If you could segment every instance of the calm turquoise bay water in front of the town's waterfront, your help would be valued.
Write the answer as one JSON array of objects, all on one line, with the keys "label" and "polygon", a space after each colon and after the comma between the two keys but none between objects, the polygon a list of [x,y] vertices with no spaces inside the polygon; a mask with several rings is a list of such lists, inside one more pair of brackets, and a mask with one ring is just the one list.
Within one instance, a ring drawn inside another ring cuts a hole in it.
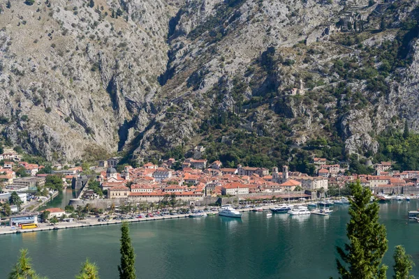
[{"label": "calm turquoise bay water in front of the town's waterfront", "polygon": [[[419,203],[381,204],[390,265],[402,244],[419,263],[418,223],[406,219]],[[337,277],[335,246],[346,241],[346,206],[331,216],[244,213],[242,220],[207,216],[131,223],[139,278],[328,278]],[[36,271],[48,278],[74,278],[87,257],[102,279],[117,278],[120,225],[0,236],[0,271],[10,271],[20,248],[28,248]],[[1,278],[6,273],[1,272]],[[419,264],[413,270],[419,277]]]}]

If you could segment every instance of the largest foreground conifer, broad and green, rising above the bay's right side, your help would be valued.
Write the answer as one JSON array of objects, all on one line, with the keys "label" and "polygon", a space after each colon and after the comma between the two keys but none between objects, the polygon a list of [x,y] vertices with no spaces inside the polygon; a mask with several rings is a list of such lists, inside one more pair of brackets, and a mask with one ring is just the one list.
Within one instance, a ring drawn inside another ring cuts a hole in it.
[{"label": "largest foreground conifer, broad and green, rising above the bay's right side", "polygon": [[350,241],[344,249],[337,252],[342,262],[336,259],[337,270],[342,279],[349,278],[385,278],[387,266],[381,260],[387,251],[387,239],[384,225],[378,223],[378,202],[369,203],[371,190],[363,188],[360,181],[352,183],[351,220],[346,225],[346,235]]}]

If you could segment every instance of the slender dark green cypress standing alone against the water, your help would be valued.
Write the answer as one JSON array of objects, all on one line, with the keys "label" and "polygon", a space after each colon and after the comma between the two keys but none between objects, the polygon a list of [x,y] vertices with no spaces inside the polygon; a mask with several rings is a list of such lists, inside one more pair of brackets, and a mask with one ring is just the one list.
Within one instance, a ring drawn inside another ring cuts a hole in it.
[{"label": "slender dark green cypress standing alone against the water", "polygon": [[135,253],[129,236],[128,223],[121,227],[121,265],[118,266],[119,279],[135,279]]}]

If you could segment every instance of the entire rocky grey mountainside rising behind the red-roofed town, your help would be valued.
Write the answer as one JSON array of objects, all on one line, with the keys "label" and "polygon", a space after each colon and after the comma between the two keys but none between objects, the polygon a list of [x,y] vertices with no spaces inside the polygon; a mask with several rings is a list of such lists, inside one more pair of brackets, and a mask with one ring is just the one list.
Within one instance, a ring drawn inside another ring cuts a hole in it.
[{"label": "entire rocky grey mountainside rising behind the red-roofed town", "polygon": [[53,160],[249,141],[371,156],[383,131],[419,130],[416,5],[3,1],[3,137]]}]

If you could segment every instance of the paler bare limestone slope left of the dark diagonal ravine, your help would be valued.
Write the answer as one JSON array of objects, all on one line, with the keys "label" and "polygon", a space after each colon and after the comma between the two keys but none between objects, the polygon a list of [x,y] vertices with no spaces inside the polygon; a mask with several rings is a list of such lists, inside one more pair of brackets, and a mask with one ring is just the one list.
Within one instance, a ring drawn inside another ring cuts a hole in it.
[{"label": "paler bare limestone slope left of the dark diagonal ravine", "polygon": [[147,126],[167,63],[172,3],[11,2],[0,15],[6,137],[73,160],[92,149],[115,152]]}]

